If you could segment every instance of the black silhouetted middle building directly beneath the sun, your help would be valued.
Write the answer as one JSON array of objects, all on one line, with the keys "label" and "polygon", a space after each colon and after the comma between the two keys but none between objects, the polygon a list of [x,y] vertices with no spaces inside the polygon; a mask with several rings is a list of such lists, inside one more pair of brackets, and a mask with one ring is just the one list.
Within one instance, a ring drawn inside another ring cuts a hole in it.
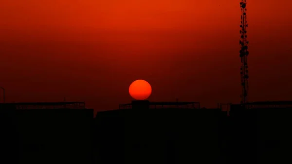
[{"label": "black silhouetted middle building directly beneath the sun", "polygon": [[[144,110],[135,108],[137,104]],[[225,160],[221,128],[227,116],[220,109],[200,109],[198,102],[146,101],[119,108],[96,115],[96,164],[219,164]]]}]

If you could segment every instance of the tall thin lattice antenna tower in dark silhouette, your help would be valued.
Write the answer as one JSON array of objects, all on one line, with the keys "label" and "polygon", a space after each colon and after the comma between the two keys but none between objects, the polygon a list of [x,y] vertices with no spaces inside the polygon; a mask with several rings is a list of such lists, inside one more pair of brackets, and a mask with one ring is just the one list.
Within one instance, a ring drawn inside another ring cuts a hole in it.
[{"label": "tall thin lattice antenna tower in dark silhouette", "polygon": [[248,41],[247,41],[247,32],[246,29],[248,27],[247,21],[246,21],[246,0],[241,0],[240,2],[240,8],[241,8],[241,25],[240,25],[240,58],[241,58],[241,68],[240,68],[240,74],[241,74],[241,104],[247,103],[247,95],[248,95],[248,65],[247,65],[247,56],[249,55],[248,52]]}]

